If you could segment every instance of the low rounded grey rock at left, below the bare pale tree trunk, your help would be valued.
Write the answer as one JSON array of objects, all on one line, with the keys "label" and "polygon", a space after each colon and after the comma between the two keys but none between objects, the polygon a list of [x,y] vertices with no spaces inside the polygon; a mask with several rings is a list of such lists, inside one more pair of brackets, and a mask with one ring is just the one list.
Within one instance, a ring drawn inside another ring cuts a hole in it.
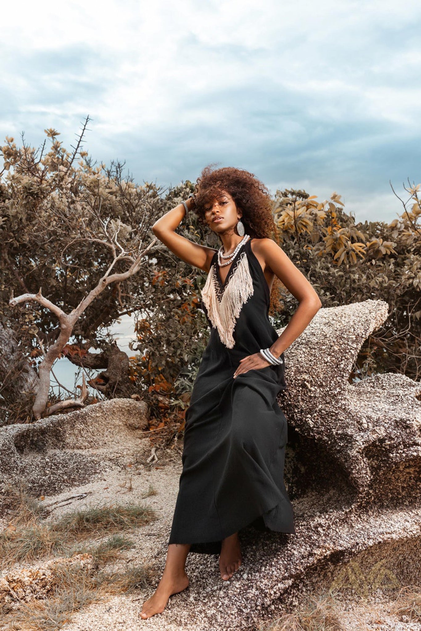
[{"label": "low rounded grey rock at left, below the bare pale tree trunk", "polygon": [[112,399],[30,425],[0,427],[0,495],[8,484],[24,483],[37,496],[90,480],[115,454],[138,447],[147,418],[143,401]]}]

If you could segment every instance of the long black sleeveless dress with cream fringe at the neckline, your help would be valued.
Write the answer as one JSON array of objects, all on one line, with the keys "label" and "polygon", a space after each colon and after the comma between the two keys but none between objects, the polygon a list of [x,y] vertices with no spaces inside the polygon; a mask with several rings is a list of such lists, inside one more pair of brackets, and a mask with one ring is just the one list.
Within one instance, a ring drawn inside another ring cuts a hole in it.
[{"label": "long black sleeveless dress with cream fringe at the neckline", "polygon": [[192,544],[194,552],[216,553],[225,537],[249,525],[295,533],[283,481],[287,420],[276,401],[286,387],[285,363],[234,379],[240,359],[278,339],[251,241],[240,247],[224,283],[215,252],[201,292],[211,333],[186,410],[169,539]]}]

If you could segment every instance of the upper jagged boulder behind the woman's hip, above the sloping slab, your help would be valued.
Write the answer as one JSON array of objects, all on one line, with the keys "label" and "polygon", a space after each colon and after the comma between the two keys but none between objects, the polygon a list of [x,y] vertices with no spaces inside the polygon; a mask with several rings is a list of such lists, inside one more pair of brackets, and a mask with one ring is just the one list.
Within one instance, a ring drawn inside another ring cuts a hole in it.
[{"label": "upper jagged boulder behind the woman's hip, above the sloping slab", "polygon": [[293,497],[340,485],[340,501],[420,500],[421,384],[401,374],[348,382],[362,343],[387,316],[382,300],[321,309],[285,351],[288,388],[278,401],[293,428]]}]

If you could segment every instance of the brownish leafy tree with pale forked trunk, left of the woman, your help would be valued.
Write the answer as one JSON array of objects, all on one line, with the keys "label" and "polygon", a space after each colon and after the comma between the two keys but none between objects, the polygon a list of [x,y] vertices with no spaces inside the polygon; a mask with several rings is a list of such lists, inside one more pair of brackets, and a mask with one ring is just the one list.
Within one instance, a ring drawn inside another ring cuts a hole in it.
[{"label": "brownish leafy tree with pale forked trunk, left of the woman", "polygon": [[95,347],[98,328],[127,312],[126,281],[143,264],[151,274],[148,251],[157,241],[157,188],[124,178],[119,163],[93,164],[82,150],[87,124],[73,151],[54,129],[45,130],[49,151],[23,138],[20,147],[13,138],[0,147],[0,317],[37,368],[35,418],[45,412],[50,370],[69,338]]}]

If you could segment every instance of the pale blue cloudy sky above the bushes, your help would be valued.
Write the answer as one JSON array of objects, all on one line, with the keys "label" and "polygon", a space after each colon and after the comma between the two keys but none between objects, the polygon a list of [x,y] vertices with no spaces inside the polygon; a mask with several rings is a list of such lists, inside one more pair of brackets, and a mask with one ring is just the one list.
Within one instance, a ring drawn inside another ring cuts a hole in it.
[{"label": "pale blue cloudy sky above the bushes", "polygon": [[15,0],[2,7],[0,138],[126,160],[138,182],[247,168],[390,221],[421,180],[419,0]]}]

